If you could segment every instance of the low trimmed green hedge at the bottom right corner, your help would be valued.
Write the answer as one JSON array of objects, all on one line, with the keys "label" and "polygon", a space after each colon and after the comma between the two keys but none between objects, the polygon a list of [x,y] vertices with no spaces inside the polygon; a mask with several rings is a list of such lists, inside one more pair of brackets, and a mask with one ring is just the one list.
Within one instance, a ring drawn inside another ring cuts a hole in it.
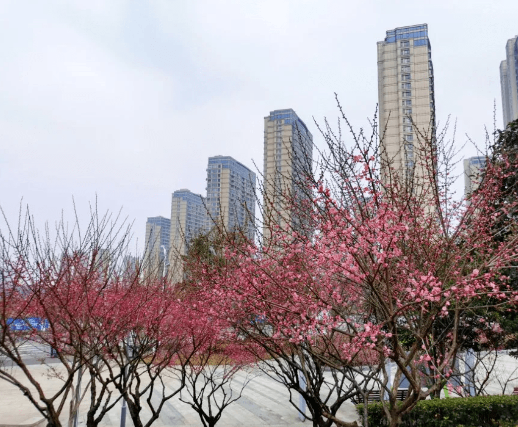
[{"label": "low trimmed green hedge at the bottom right corner", "polygon": [[[398,403],[400,405],[400,403]],[[363,405],[356,405],[360,420]],[[386,426],[381,403],[368,405],[369,427]],[[518,396],[453,397],[419,402],[402,417],[402,427],[511,426],[518,422]]]}]

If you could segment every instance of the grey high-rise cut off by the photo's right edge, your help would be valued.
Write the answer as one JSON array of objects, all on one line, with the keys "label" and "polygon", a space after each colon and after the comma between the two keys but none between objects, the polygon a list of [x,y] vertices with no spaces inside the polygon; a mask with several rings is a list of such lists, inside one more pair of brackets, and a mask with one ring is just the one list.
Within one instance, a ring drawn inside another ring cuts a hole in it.
[{"label": "grey high-rise cut off by the photo's right edge", "polygon": [[518,36],[506,43],[506,59],[500,63],[503,127],[518,119]]}]

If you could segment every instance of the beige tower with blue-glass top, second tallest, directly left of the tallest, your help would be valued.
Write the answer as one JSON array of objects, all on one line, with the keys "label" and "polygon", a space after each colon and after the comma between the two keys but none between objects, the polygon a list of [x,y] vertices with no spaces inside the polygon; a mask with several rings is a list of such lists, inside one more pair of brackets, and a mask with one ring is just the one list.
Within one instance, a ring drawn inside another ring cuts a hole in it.
[{"label": "beige tower with blue-glass top, second tallest, directly left of the tallest", "polygon": [[265,242],[273,224],[300,228],[303,219],[292,207],[308,197],[304,177],[312,165],[313,136],[306,124],[292,109],[270,111],[264,118]]}]

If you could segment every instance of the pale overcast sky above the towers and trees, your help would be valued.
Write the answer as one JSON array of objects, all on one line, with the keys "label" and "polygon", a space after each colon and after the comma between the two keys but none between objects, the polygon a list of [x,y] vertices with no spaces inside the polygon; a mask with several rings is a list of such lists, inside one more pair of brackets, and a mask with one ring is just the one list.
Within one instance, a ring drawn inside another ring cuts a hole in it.
[{"label": "pale overcast sky above the towers and trees", "polygon": [[439,123],[483,146],[517,14],[515,0],[0,0],[0,205],[12,222],[23,198],[53,223],[97,195],[142,247],[174,190],[205,194],[209,156],[262,170],[269,111],[293,108],[320,145],[313,117],[336,122],[337,92],[368,126],[376,42],[413,24],[428,24]]}]

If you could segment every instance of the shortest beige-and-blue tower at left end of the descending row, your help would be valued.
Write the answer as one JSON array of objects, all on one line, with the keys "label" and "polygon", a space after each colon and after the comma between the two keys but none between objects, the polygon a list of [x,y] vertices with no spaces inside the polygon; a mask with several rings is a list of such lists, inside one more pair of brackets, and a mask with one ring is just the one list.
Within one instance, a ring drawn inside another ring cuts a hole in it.
[{"label": "shortest beige-and-blue tower at left end of the descending row", "polygon": [[170,225],[170,219],[163,216],[148,218],[143,258],[143,268],[148,275],[161,276],[163,274],[164,260],[167,259],[169,253]]}]

